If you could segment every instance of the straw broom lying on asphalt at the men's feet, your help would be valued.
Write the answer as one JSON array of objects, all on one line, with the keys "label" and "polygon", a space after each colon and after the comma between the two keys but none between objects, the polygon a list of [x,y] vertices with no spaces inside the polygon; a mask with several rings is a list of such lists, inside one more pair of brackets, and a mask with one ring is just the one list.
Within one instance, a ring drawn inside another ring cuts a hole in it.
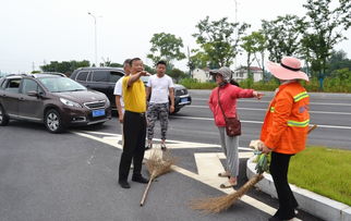
[{"label": "straw broom lying on asphalt at the men's feet", "polygon": [[162,156],[157,154],[158,150],[154,150],[146,161],[146,168],[150,174],[150,179],[147,183],[146,189],[143,194],[142,200],[141,200],[141,207],[144,206],[147,193],[149,191],[149,187],[152,185],[152,182],[165,174],[171,171],[171,165],[174,163],[174,158],[170,156],[168,151],[166,151]]}]

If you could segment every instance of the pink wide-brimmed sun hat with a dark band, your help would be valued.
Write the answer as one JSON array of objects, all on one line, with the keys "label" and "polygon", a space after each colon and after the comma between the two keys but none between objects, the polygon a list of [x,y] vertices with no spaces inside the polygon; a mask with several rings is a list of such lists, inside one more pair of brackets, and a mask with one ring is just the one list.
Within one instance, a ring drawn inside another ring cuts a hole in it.
[{"label": "pink wide-brimmed sun hat with a dark band", "polygon": [[268,61],[267,67],[279,79],[304,79],[308,82],[308,76],[301,71],[301,61],[296,58],[283,57],[280,63]]}]

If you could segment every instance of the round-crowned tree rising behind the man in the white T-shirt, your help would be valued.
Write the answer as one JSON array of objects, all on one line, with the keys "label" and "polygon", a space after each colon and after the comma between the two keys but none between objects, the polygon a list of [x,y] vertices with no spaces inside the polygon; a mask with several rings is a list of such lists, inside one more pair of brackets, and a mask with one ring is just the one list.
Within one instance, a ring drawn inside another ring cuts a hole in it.
[{"label": "round-crowned tree rising behind the man in the white T-shirt", "polygon": [[150,53],[147,54],[147,58],[152,59],[154,64],[160,60],[166,60],[172,66],[173,60],[185,59],[185,54],[180,51],[183,48],[183,40],[174,35],[166,33],[154,34],[150,44]]}]

